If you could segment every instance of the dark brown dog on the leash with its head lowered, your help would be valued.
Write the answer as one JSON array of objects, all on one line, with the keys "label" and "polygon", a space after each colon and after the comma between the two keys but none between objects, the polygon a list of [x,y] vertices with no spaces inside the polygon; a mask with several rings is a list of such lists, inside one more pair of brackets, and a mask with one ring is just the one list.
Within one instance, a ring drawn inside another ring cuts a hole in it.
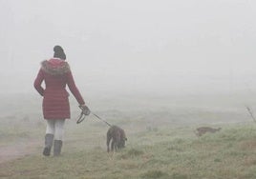
[{"label": "dark brown dog on the leash with its head lowered", "polygon": [[111,150],[121,149],[125,147],[125,141],[127,141],[125,132],[117,126],[112,126],[107,132],[107,147],[109,152],[109,144],[111,141]]}]

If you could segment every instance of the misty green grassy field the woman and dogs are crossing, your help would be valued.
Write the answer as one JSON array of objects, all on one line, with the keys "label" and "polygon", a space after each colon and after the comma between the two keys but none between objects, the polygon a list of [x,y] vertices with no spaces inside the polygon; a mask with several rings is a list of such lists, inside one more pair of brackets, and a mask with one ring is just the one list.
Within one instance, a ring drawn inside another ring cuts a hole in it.
[{"label": "misty green grassy field the woman and dogs are crossing", "polygon": [[[62,155],[44,157],[40,104],[26,100],[22,109],[2,112],[0,151],[23,150],[23,155],[1,162],[0,178],[256,178],[256,124],[237,106],[206,108],[127,99],[122,106],[106,107],[109,101],[104,99],[95,112],[125,129],[125,149],[107,153],[108,126],[89,116],[80,125],[67,121]],[[194,130],[200,126],[222,130],[197,137]]]}]

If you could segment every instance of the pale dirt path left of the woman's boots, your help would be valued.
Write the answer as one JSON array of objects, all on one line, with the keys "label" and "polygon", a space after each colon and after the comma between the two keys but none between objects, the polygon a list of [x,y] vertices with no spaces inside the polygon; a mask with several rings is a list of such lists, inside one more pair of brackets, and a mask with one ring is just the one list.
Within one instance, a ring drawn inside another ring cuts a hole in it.
[{"label": "pale dirt path left of the woman's boots", "polygon": [[35,153],[40,145],[38,141],[31,140],[0,147],[0,164]]}]

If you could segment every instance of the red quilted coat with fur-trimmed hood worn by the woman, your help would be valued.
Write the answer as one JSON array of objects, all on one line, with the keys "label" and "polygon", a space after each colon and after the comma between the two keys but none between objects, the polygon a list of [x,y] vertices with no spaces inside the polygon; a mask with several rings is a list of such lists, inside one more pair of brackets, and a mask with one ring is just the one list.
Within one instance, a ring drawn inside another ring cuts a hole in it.
[{"label": "red quilted coat with fur-trimmed hood worn by the woman", "polygon": [[[41,84],[45,81],[45,89]],[[69,64],[59,58],[42,62],[41,69],[34,80],[34,88],[43,96],[43,114],[45,119],[70,118],[68,85],[79,105],[84,100],[75,86],[75,81]]]}]

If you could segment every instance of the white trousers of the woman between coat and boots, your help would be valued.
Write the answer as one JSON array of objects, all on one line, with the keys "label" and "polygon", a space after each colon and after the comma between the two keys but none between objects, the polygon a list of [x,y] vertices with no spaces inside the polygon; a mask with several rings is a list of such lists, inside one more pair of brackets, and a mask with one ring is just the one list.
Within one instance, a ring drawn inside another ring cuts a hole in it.
[{"label": "white trousers of the woman between coat and boots", "polygon": [[49,119],[47,121],[46,133],[54,135],[54,140],[63,140],[65,119]]}]

